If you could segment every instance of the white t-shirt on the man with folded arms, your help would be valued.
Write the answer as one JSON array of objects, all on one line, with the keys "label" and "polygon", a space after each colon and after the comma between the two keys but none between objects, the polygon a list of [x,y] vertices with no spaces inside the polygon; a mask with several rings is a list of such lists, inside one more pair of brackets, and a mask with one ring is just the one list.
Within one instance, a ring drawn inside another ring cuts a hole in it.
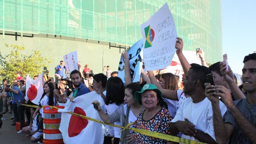
[{"label": "white t-shirt on the man with folded arms", "polygon": [[[227,111],[223,102],[220,102],[220,111],[221,116],[223,117]],[[184,121],[184,118],[187,118],[187,120],[196,125],[196,129],[203,131],[216,140],[213,129],[213,109],[211,101],[209,101],[208,98],[205,98],[203,101],[196,104],[192,102],[191,97],[185,99],[171,122],[175,123],[178,120]],[[198,141],[194,137],[188,135],[182,135],[182,138]]]}]

